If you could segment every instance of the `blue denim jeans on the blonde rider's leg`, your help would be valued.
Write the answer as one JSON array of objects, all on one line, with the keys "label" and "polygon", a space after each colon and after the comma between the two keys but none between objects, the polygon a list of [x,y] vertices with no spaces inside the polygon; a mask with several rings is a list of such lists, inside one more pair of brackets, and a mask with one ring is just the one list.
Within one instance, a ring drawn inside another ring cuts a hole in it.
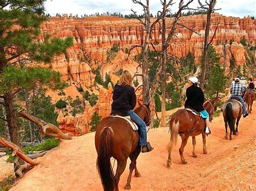
[{"label": "blue denim jeans on the blonde rider's leg", "polygon": [[145,146],[147,145],[147,130],[146,123],[132,110],[127,111],[126,115],[130,116],[132,121],[138,125],[139,128],[139,145]]}]

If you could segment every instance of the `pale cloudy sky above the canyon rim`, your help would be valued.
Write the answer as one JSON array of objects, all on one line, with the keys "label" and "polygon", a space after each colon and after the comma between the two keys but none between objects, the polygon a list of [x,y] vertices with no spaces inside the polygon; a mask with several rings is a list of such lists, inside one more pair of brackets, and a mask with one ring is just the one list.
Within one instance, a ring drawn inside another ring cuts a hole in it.
[{"label": "pale cloudy sky above the canyon rim", "polygon": [[[145,2],[145,0],[141,0]],[[168,2],[169,0],[167,0]],[[187,2],[188,0],[184,0]],[[209,1],[209,0],[207,0]],[[178,0],[173,0],[178,2]],[[201,0],[205,2],[205,0]],[[194,0],[191,3],[191,8],[197,8],[198,0]],[[173,5],[172,12],[176,12],[178,3]],[[216,12],[224,16],[233,16],[243,18],[244,16],[256,16],[256,0],[217,0],[215,6],[216,9],[221,9]],[[72,13],[72,15],[80,17],[85,13],[87,15],[106,12],[120,12],[123,15],[129,15],[131,9],[138,13],[143,13],[140,5],[132,3],[132,0],[47,0],[45,2],[46,12],[51,16],[55,16],[56,13],[62,15],[63,13]],[[160,0],[150,0],[150,11],[153,15],[156,15],[157,11],[161,10]]]}]

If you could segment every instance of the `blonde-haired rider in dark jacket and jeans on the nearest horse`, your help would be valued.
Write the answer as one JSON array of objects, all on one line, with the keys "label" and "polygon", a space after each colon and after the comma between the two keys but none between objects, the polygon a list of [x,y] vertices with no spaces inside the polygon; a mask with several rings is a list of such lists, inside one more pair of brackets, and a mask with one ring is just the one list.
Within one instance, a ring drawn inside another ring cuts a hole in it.
[{"label": "blonde-haired rider in dark jacket and jeans on the nearest horse", "polygon": [[[142,146],[142,152],[150,152],[153,147],[147,143],[146,123],[132,110],[136,105],[136,94],[132,87],[132,76],[128,70],[124,70],[120,76],[119,83],[114,86],[113,103],[111,104],[111,114],[122,112],[130,116],[132,121],[139,128],[139,145]],[[149,147],[147,147],[149,145]]]}]

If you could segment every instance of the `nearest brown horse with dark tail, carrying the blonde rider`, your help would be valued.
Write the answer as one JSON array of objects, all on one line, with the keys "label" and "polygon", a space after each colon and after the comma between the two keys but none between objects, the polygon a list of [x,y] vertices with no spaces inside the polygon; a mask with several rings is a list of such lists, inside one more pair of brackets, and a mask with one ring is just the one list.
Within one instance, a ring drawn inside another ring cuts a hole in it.
[{"label": "nearest brown horse with dark tail, carrying the blonde rider", "polygon": [[[151,121],[149,104],[143,104],[134,110],[149,125]],[[99,122],[95,134],[95,146],[98,154],[97,169],[104,190],[118,190],[120,176],[125,170],[128,157],[131,159],[130,174],[125,189],[131,189],[131,176],[140,177],[136,160],[140,153],[138,131],[133,131],[130,124],[122,118],[106,117]],[[117,160],[117,171],[113,174],[110,158]]]}]

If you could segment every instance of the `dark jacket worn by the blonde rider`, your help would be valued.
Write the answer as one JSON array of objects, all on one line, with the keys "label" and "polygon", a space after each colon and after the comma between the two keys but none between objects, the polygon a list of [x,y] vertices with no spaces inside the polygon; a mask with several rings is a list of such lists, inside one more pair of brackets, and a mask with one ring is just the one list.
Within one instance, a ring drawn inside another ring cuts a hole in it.
[{"label": "dark jacket worn by the blonde rider", "polygon": [[132,86],[119,86],[116,84],[113,90],[112,112],[127,112],[133,110],[136,105],[136,94]]}]

